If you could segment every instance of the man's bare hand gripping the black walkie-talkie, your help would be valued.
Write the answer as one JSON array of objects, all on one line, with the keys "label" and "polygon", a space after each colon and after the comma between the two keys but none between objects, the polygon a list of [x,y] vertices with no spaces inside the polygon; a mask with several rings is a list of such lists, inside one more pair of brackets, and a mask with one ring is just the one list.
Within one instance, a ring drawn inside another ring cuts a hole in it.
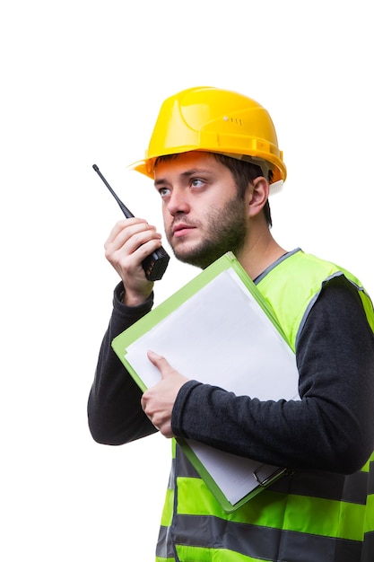
[{"label": "man's bare hand gripping the black walkie-talkie", "polygon": [[119,221],[104,244],[105,257],[125,287],[124,303],[136,306],[152,293],[153,282],[145,277],[142,261],[161,247],[161,234],[140,218]]}]

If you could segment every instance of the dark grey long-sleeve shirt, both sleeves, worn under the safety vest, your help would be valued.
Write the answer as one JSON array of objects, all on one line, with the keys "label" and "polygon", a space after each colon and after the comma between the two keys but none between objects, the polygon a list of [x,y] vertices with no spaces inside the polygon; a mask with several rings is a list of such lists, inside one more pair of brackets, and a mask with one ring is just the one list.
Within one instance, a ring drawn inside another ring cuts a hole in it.
[{"label": "dark grey long-sleeve shirt, both sleeves, worn under the safety vest", "polygon": [[[116,445],[156,431],[141,408],[142,391],[110,346],[151,310],[152,297],[129,308],[120,302],[122,290],[117,285],[88,404],[93,438]],[[173,408],[174,434],[276,466],[359,470],[374,449],[374,336],[344,277],[319,295],[296,359],[300,401],[260,401],[189,381]]]}]

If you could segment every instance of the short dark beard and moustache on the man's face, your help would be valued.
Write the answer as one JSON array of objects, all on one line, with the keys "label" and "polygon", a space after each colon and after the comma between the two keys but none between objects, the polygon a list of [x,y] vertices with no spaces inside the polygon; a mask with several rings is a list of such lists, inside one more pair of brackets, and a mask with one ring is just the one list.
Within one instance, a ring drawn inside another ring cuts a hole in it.
[{"label": "short dark beard and moustache on the man's face", "polygon": [[[197,268],[207,268],[213,261],[223,254],[232,251],[237,254],[243,247],[247,235],[246,207],[242,198],[237,196],[230,199],[221,209],[213,209],[206,215],[204,221],[204,240],[197,242],[193,248],[183,249],[183,243],[178,248],[171,243],[171,229],[167,238],[174,256],[184,263]],[[181,220],[186,222],[185,216]],[[178,223],[175,221],[174,223]],[[197,223],[196,226],[201,226]]]}]

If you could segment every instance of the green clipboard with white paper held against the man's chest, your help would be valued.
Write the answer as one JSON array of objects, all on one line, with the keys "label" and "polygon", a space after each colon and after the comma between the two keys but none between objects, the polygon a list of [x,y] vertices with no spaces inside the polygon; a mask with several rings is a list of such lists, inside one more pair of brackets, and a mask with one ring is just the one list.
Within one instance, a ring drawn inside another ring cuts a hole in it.
[{"label": "green clipboard with white paper held against the man's chest", "polygon": [[[114,338],[112,347],[142,391],[160,381],[146,356],[152,349],[190,379],[258,400],[300,400],[295,354],[231,252]],[[288,470],[191,439],[177,442],[228,513]]]}]

